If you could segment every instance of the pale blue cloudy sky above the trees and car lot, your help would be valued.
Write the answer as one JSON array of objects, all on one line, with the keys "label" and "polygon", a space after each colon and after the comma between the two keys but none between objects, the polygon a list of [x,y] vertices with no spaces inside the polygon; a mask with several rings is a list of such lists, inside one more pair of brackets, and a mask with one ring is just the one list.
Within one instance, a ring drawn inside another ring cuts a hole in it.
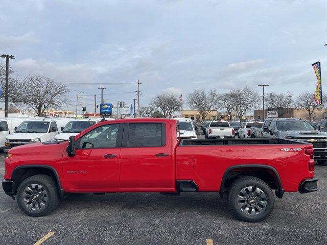
[{"label": "pale blue cloudy sky above the trees and car lot", "polygon": [[0,53],[16,56],[10,62],[19,77],[39,73],[67,83],[66,109],[75,108],[78,90],[87,110],[94,108],[100,86],[108,102],[131,104],[137,79],[142,105],[162,91],[185,100],[195,88],[259,91],[266,83],[268,91],[313,92],[311,64],[318,60],[325,88],[326,1],[0,0],[0,6]]}]

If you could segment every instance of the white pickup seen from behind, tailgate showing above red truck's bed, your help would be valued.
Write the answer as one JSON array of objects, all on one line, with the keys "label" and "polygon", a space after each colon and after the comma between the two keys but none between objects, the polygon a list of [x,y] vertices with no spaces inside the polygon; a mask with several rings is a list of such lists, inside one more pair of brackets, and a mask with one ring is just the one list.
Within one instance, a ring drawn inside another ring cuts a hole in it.
[{"label": "white pickup seen from behind, tailgate showing above red truck's bed", "polygon": [[211,121],[205,136],[208,139],[235,138],[235,130],[228,121]]}]

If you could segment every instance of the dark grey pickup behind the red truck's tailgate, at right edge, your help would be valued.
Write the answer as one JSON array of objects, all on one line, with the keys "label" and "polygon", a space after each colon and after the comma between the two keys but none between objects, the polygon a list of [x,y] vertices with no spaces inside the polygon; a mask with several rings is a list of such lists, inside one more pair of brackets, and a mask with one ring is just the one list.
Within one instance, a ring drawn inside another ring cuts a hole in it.
[{"label": "dark grey pickup behind the red truck's tailgate, at right edge", "polygon": [[327,133],[316,130],[306,120],[297,118],[269,118],[260,130],[261,138],[282,137],[312,143],[314,159],[327,165]]}]

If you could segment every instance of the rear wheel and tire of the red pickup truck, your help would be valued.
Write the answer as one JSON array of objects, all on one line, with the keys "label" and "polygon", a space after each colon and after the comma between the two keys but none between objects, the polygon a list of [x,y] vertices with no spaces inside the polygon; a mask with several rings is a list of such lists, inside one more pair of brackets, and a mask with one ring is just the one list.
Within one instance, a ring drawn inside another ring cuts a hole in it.
[{"label": "rear wheel and tire of the red pickup truck", "polygon": [[246,176],[230,185],[228,203],[231,212],[240,220],[261,222],[271,214],[275,199],[266,182],[256,177]]}]

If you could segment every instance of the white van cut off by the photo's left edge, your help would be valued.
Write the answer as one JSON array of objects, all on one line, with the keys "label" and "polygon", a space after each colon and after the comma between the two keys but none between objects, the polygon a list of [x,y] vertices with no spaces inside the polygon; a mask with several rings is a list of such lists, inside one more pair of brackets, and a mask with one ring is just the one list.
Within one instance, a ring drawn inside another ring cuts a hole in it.
[{"label": "white van cut off by the photo's left edge", "polygon": [[[38,118],[38,117],[36,117]],[[3,149],[5,146],[6,137],[15,131],[21,122],[27,120],[35,120],[35,117],[30,118],[2,118],[0,119],[0,149]]]}]

